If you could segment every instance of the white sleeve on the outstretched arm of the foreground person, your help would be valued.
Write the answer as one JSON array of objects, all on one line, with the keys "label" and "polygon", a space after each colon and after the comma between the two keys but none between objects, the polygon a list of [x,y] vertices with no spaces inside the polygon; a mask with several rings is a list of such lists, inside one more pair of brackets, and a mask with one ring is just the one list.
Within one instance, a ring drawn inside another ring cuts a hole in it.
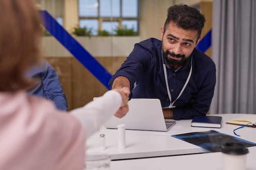
[{"label": "white sleeve on the outstretched arm of the foreground person", "polygon": [[120,108],[122,97],[117,91],[108,91],[102,97],[92,101],[81,108],[70,111],[70,114],[79,119],[85,128],[86,138],[114,115]]}]

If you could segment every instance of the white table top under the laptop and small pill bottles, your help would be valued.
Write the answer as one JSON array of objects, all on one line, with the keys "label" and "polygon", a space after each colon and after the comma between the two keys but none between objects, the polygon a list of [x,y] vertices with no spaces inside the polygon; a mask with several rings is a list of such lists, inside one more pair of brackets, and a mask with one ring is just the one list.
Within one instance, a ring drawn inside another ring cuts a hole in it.
[{"label": "white table top under the laptop and small pill bottles", "polygon": [[[221,128],[197,128],[191,127],[190,120],[177,121],[176,125],[179,127],[174,135],[200,132],[208,130],[217,130],[228,135],[235,136],[233,130],[239,126],[225,124],[229,119],[240,117],[247,114],[220,114],[222,116]],[[211,115],[209,115],[211,116]],[[174,127],[175,127],[174,126]],[[173,128],[174,128],[173,127]],[[240,138],[256,142],[256,128],[241,128],[236,132],[241,135]],[[126,130],[127,131],[127,130]],[[135,130],[136,131],[136,130]],[[99,149],[99,135],[106,135],[106,150]],[[165,135],[148,135],[140,133],[127,133],[126,132],[126,149],[118,148],[118,133],[117,130],[106,129],[102,127],[87,141],[86,154],[90,153],[105,153],[111,155],[111,160],[122,159],[135,159],[135,158],[148,158],[148,157],[161,157],[161,156],[174,156],[174,155],[187,155],[209,152],[199,146],[195,146],[188,142],[176,139],[171,136]],[[153,158],[152,158],[153,159]]]}]

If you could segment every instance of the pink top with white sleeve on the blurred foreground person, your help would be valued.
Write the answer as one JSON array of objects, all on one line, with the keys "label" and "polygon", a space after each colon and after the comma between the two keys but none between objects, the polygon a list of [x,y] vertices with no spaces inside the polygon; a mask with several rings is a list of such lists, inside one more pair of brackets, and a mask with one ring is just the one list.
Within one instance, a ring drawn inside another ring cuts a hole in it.
[{"label": "pink top with white sleeve on the blurred foreground person", "polygon": [[121,101],[118,92],[108,91],[100,100],[67,114],[24,91],[1,92],[0,169],[83,170],[85,134],[89,137],[97,131]]}]

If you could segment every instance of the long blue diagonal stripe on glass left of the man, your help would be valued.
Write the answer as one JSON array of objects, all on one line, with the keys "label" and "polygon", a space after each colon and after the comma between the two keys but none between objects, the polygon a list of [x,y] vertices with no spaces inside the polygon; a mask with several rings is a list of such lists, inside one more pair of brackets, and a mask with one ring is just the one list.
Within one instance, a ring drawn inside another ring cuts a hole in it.
[{"label": "long blue diagonal stripe on glass left of the man", "polygon": [[111,74],[79,42],[77,42],[47,11],[39,11],[42,24],[65,48],[76,57],[106,88]]}]

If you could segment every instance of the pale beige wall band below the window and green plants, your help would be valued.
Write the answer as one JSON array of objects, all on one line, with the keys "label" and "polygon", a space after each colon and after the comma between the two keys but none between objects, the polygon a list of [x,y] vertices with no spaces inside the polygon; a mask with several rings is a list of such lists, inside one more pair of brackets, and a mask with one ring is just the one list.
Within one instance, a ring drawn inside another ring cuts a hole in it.
[{"label": "pale beige wall band below the window and green plants", "polygon": [[[140,37],[74,37],[91,55],[98,57],[127,57]],[[42,53],[44,57],[72,57],[54,37],[42,38]]]}]

